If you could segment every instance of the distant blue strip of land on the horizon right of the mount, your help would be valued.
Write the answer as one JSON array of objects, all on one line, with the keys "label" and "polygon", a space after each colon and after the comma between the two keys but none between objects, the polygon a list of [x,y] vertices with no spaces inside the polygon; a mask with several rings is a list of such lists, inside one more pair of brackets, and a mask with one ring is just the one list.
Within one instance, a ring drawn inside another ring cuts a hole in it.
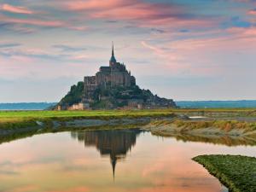
[{"label": "distant blue strip of land on the horizon right of the mount", "polygon": [[180,108],[256,108],[256,100],[176,102]]}]

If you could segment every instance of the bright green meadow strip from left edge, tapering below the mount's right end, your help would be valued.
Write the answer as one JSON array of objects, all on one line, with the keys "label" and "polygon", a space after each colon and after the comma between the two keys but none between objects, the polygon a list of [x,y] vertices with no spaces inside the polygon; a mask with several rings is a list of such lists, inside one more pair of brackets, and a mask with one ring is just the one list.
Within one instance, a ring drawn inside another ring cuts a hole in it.
[{"label": "bright green meadow strip from left edge, tapering below the mount's right end", "polygon": [[70,119],[119,119],[163,117],[170,110],[101,110],[101,111],[0,111],[0,128],[19,128],[36,125],[36,121],[65,121]]}]

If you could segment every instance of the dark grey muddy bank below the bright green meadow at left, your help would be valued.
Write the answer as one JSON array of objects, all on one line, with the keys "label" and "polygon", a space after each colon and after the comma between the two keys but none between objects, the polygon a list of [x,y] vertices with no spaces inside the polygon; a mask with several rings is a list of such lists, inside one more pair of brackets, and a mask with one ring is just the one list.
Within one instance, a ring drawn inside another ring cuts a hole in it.
[{"label": "dark grey muddy bank below the bright green meadow at left", "polygon": [[36,134],[59,132],[59,131],[79,131],[95,129],[131,129],[148,125],[151,120],[171,120],[172,117],[163,118],[123,118],[123,119],[69,119],[63,120],[37,120],[26,127],[12,127],[0,129],[0,143],[10,142],[15,139],[32,137]]}]

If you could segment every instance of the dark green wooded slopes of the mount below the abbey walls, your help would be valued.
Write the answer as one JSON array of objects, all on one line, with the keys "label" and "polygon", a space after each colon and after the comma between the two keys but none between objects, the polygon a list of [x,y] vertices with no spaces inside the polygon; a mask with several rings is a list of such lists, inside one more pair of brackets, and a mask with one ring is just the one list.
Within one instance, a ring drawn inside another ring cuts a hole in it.
[{"label": "dark green wooded slopes of the mount below the abbey walls", "polygon": [[[61,99],[56,106],[64,108],[70,107],[84,100],[84,82],[73,85],[67,95]],[[143,90],[137,85],[131,86],[99,86],[93,93],[90,107],[94,109],[122,108],[128,106],[128,102],[140,101],[145,105],[151,105],[152,102],[158,103],[162,107],[176,108],[175,102],[160,96],[154,95],[150,90]],[[55,108],[56,108],[55,106]]]}]

